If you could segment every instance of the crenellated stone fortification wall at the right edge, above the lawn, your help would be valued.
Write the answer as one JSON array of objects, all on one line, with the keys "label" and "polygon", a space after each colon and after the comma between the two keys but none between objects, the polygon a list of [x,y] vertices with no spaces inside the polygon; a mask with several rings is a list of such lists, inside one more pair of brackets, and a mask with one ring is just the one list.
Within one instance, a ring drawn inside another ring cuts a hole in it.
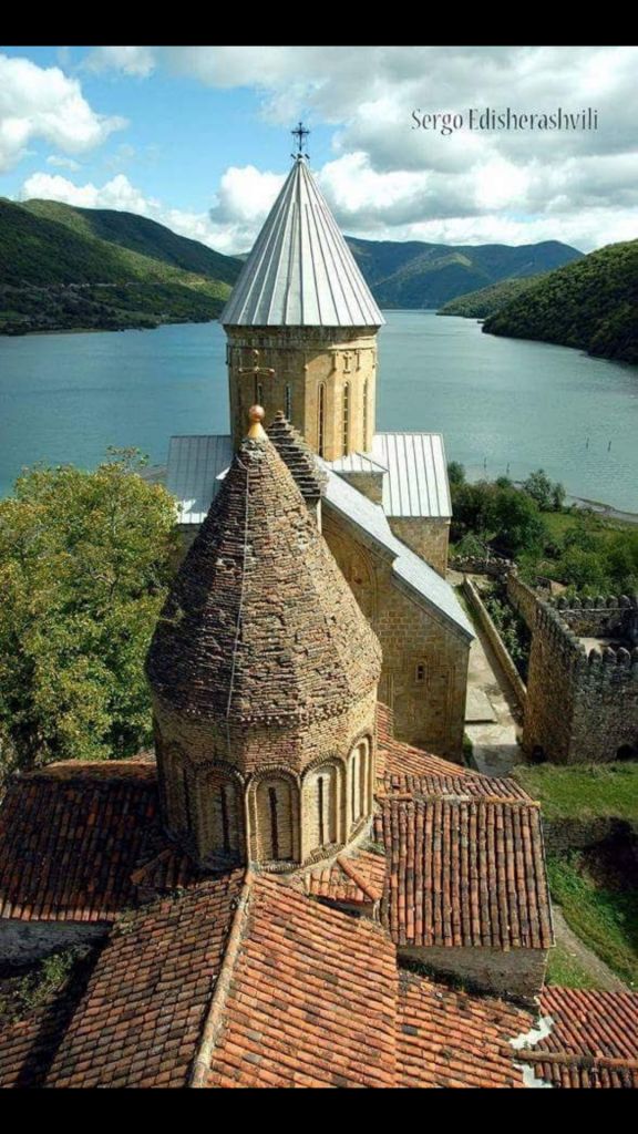
[{"label": "crenellated stone fortification wall at the right edge, above the lawn", "polygon": [[[523,731],[528,755],[564,764],[638,755],[637,615],[636,599],[626,595],[539,603]],[[582,638],[602,641],[588,650]]]}]

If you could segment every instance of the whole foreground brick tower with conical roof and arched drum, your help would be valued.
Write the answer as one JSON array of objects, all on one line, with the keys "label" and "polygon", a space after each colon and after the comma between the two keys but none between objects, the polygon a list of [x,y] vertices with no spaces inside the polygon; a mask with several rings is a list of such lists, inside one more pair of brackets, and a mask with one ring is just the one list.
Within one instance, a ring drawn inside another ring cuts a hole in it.
[{"label": "whole foreground brick tower with conical roof and arched drum", "polygon": [[253,407],[146,674],[167,830],[203,865],[289,870],[369,824],[381,653],[262,418]]}]

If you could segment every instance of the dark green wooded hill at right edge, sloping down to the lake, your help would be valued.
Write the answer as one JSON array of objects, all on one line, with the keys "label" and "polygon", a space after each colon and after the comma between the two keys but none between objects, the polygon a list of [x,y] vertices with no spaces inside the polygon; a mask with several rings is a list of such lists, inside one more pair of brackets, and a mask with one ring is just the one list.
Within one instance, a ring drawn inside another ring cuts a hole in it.
[{"label": "dark green wooded hill at right edge, sloping down to the lake", "polygon": [[610,244],[551,272],[482,329],[638,363],[638,240]]}]

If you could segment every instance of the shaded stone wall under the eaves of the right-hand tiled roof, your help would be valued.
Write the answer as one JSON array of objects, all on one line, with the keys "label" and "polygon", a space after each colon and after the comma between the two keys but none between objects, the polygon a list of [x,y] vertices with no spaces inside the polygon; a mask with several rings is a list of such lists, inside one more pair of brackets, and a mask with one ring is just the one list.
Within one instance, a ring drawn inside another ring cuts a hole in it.
[{"label": "shaded stone wall under the eaves of the right-hand tiled roof", "polygon": [[400,957],[419,960],[442,976],[452,976],[468,988],[529,1001],[545,979],[547,950],[487,948],[418,948],[398,946]]}]

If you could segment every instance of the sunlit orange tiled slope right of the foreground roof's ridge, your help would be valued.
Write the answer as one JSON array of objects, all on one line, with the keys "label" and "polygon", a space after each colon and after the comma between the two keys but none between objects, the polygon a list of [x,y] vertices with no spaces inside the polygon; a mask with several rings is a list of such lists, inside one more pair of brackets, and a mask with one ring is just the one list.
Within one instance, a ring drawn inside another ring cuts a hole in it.
[{"label": "sunlit orange tiled slope right of the foreground roof's ridge", "polygon": [[392,1086],[395,951],[378,925],[251,885],[209,1086]]}]

